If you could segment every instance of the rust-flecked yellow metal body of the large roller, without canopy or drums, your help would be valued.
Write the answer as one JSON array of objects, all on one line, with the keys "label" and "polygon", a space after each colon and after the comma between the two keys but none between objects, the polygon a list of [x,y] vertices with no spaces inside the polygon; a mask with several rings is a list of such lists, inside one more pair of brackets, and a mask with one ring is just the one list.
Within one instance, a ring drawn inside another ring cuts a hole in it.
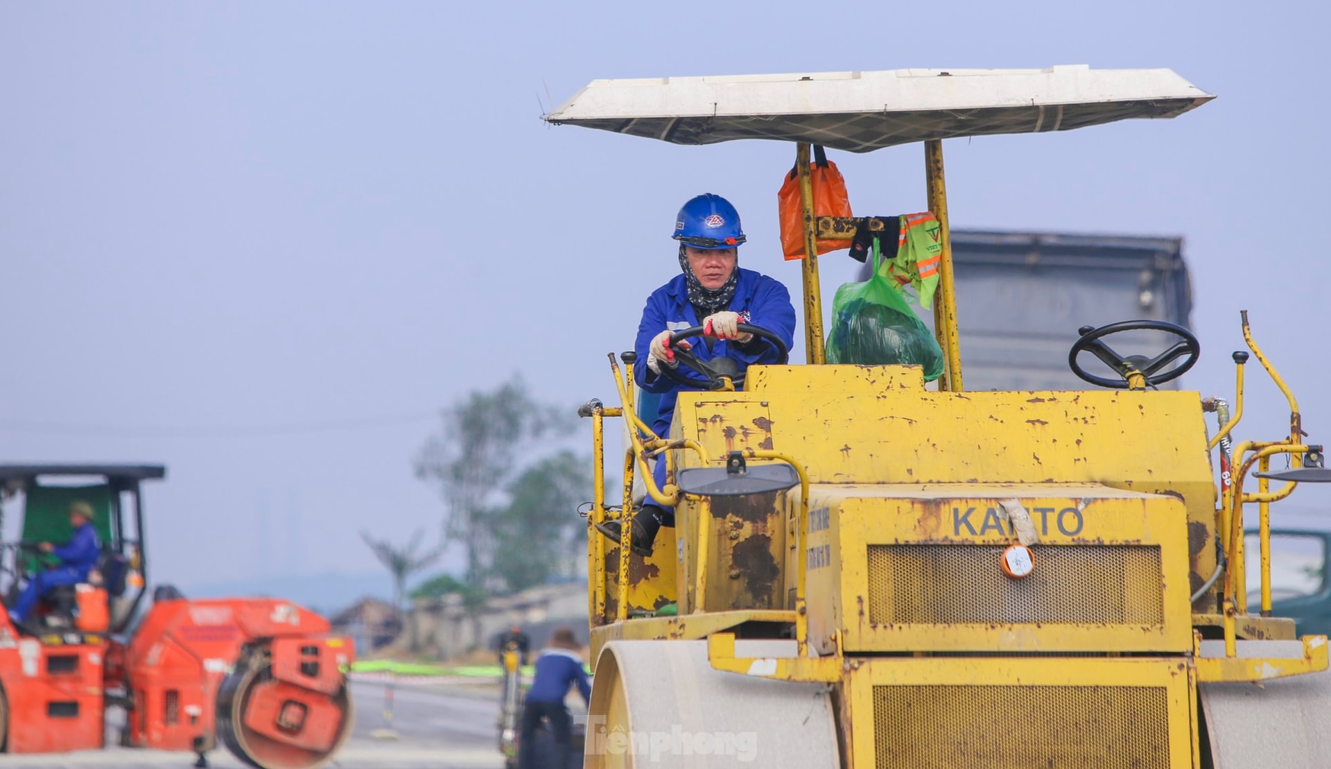
[{"label": "rust-flecked yellow metal body of the large roller, without canopy or drums", "polygon": [[[1235,494],[1218,516],[1207,444],[1195,392],[930,391],[910,366],[755,366],[745,391],[679,398],[669,436],[632,440],[626,476],[660,455],[659,492],[675,492],[679,470],[741,451],[791,462],[800,488],[681,495],[676,539],[663,530],[654,559],[620,548],[592,564],[604,593],[623,596],[607,601],[592,645],[707,637],[716,669],[835,687],[852,766],[877,765],[884,745],[922,765],[1066,760],[1050,740],[985,726],[998,705],[1009,721],[1077,732],[1089,754],[1130,746],[1146,750],[1142,766],[1195,765],[1198,681],[1327,667],[1320,636],[1299,659],[1236,655],[1236,639],[1288,640],[1294,625],[1236,611],[1233,555],[1193,613],[1190,596],[1217,571],[1218,528],[1236,553],[1227,540],[1242,506],[1274,496]],[[1235,488],[1246,468],[1302,450],[1240,443]],[[612,514],[598,498],[594,515]],[[1024,519],[1034,571],[1013,580],[1000,557]],[[668,599],[679,616],[632,616]],[[1202,657],[1195,627],[1222,628],[1226,656]],[[736,656],[736,635],[792,631],[795,657]],[[1078,720],[1087,702],[1094,724]],[[921,730],[904,736],[902,722]],[[990,740],[1004,750],[978,756]]]}]

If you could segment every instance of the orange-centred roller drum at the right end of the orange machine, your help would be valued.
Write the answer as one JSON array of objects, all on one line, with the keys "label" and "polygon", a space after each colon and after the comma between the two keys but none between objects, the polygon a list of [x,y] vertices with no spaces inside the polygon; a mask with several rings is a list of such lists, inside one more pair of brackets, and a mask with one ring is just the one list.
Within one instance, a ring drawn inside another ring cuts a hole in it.
[{"label": "orange-centred roller drum at the right end of the orange machine", "polygon": [[355,710],[343,684],[334,693],[273,676],[266,651],[241,657],[217,694],[217,734],[260,769],[317,769],[351,736]]}]

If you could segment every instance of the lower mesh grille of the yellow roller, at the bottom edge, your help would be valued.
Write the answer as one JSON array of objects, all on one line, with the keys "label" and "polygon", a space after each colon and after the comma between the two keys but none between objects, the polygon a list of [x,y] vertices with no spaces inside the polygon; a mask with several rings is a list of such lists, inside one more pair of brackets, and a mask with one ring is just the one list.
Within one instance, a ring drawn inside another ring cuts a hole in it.
[{"label": "lower mesh grille of the yellow roller, at the bottom edge", "polygon": [[1169,769],[1161,687],[874,687],[878,769]]}]

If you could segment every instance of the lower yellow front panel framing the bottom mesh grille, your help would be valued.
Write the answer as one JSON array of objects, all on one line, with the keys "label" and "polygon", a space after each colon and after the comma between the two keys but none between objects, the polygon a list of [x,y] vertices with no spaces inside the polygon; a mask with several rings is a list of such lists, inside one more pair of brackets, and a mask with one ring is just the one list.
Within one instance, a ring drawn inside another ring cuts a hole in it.
[{"label": "lower yellow front panel framing the bottom mesh grille", "polygon": [[847,663],[839,700],[855,766],[886,765],[880,750],[902,766],[1193,765],[1195,687],[1186,657]]}]

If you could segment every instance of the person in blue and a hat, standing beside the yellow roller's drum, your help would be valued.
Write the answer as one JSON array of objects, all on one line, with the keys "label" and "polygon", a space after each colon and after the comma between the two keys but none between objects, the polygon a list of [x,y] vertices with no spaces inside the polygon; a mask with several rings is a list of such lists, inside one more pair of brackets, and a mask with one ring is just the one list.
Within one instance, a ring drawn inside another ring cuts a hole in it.
[{"label": "person in blue and a hat, standing beside the yellow roller's drum", "polygon": [[559,628],[550,633],[548,645],[536,656],[536,675],[531,680],[527,702],[522,708],[522,737],[518,740],[520,765],[524,769],[536,762],[532,748],[536,744],[536,726],[542,718],[550,721],[558,753],[556,760],[546,765],[568,765],[568,749],[572,746],[572,716],[564,705],[568,688],[576,684],[583,702],[591,705],[591,683],[582,667],[582,655],[578,653],[580,648],[571,628]]}]

